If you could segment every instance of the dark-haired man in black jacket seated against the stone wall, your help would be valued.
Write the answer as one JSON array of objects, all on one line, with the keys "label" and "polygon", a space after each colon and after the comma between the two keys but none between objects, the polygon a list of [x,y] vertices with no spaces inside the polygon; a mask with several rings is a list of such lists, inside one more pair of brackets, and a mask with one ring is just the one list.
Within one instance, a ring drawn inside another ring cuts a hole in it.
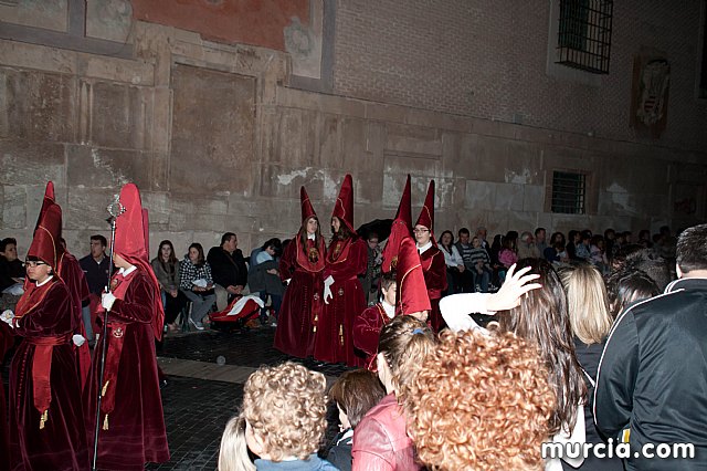
[{"label": "dark-haired man in black jacket seated against the stone wall", "polygon": [[225,310],[229,302],[240,295],[247,284],[247,266],[245,266],[243,252],[238,247],[238,236],[226,232],[221,237],[221,245],[212,247],[207,255],[213,275],[219,311]]}]

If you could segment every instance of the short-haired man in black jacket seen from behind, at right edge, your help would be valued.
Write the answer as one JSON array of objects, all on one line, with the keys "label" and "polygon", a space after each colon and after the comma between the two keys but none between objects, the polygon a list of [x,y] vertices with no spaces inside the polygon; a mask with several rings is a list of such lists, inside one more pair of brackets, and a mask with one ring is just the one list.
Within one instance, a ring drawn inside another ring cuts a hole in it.
[{"label": "short-haired man in black jacket seen from behind, at right edge", "polygon": [[[707,224],[680,234],[676,265],[664,294],[619,315],[599,364],[594,420],[630,444],[629,470],[707,469]],[[661,443],[695,456],[658,458]]]}]

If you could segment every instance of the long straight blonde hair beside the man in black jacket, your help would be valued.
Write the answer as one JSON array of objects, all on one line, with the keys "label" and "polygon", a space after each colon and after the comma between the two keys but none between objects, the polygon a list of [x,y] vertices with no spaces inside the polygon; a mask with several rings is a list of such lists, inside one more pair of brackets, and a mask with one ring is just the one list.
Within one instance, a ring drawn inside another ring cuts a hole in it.
[{"label": "long straight blonde hair beside the man in black jacket", "polygon": [[611,329],[606,286],[592,265],[562,270],[572,333],[587,345],[601,344]]}]

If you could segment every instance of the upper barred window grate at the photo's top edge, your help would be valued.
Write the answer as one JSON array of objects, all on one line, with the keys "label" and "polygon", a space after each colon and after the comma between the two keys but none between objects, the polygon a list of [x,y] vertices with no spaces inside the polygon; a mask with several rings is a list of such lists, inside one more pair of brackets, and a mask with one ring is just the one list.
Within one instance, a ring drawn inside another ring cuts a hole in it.
[{"label": "upper barred window grate at the photo's top edge", "polygon": [[612,0],[560,0],[557,63],[608,74]]}]

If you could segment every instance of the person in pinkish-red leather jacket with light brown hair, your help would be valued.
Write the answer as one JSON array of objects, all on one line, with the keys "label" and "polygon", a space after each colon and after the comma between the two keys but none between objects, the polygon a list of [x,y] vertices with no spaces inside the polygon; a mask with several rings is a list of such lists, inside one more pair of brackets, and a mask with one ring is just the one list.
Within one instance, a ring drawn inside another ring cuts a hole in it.
[{"label": "person in pinkish-red leather jacket with light brown hair", "polygon": [[423,469],[407,433],[407,415],[399,400],[434,344],[434,333],[412,316],[398,316],[383,326],[377,362],[378,377],[388,396],[368,411],[354,431],[352,470]]}]

